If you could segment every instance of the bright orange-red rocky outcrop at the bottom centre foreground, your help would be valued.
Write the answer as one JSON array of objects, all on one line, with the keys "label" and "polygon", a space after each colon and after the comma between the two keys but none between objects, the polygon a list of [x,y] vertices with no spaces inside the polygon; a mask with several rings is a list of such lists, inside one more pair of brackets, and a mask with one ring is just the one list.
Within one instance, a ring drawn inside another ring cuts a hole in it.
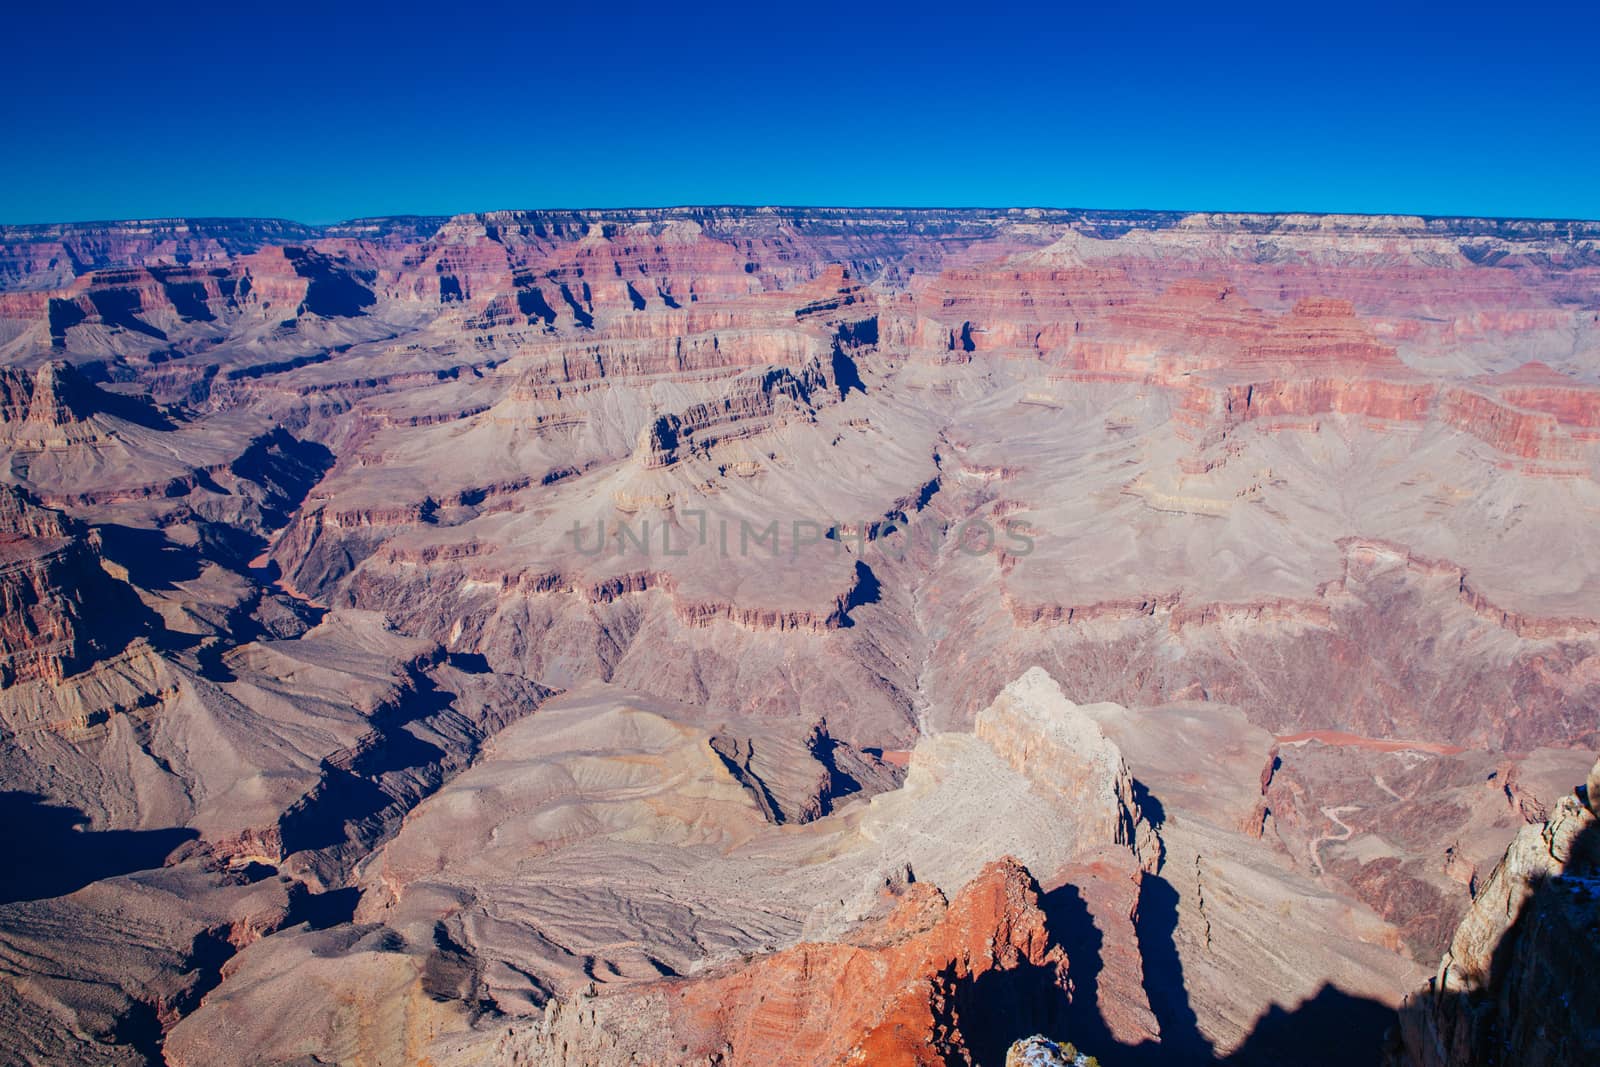
[{"label": "bright orange-red rocky outcrop at the bottom centre foreground", "polygon": [[[1051,944],[1038,886],[1016,861],[986,867],[950,902],[912,883],[848,942],[800,944],[715,973],[552,1003],[490,1062],[942,1065],[1005,1049],[1054,1022],[1069,961]],[[859,990],[870,987],[872,997]]]}]

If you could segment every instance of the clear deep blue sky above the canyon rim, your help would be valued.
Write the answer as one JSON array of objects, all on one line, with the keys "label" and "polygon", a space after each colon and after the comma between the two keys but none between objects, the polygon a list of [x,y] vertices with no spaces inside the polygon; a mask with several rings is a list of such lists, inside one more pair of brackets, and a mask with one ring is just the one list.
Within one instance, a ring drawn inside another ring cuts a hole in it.
[{"label": "clear deep blue sky above the canyon rim", "polygon": [[0,14],[0,222],[670,203],[1600,218],[1594,2],[45,6]]}]

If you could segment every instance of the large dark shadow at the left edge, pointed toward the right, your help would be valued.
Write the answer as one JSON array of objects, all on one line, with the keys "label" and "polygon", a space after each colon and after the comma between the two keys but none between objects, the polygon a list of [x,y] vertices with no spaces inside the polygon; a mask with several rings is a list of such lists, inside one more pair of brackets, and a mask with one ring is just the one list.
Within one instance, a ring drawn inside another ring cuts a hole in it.
[{"label": "large dark shadow at the left edge, pointed toward the right", "polygon": [[163,830],[83,830],[77,808],[46,803],[38,793],[0,792],[0,904],[75,893],[91,881],[160,867],[184,841],[187,827]]}]

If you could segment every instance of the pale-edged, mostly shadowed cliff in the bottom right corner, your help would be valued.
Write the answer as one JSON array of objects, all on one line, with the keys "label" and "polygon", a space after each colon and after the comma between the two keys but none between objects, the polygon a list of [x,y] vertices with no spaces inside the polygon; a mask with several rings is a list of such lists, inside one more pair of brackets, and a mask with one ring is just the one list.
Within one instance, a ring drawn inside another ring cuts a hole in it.
[{"label": "pale-edged, mostly shadowed cliff in the bottom right corner", "polygon": [[1600,819],[1595,795],[1562,797],[1525,827],[1456,928],[1429,987],[1400,1011],[1398,1062],[1416,1067],[1600,1057]]}]

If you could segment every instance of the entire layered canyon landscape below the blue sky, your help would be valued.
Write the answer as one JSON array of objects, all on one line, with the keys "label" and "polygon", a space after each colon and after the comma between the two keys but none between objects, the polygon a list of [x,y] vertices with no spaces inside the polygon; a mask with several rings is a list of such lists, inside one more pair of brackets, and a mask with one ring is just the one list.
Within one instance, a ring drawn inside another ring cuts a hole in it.
[{"label": "entire layered canyon landscape below the blue sky", "polygon": [[0,227],[0,1061],[1600,1062],[1600,222]]}]

